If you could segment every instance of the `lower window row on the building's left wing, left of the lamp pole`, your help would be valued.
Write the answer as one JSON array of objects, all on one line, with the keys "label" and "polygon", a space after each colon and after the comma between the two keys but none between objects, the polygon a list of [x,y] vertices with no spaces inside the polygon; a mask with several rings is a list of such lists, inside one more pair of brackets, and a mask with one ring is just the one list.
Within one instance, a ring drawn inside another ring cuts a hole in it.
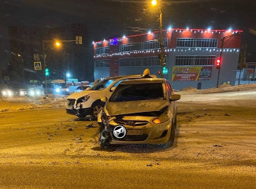
[{"label": "lower window row on the building's left wing, left of the lamp pole", "polygon": [[160,65],[159,57],[131,57],[121,58],[119,60],[121,67],[129,66],[158,66]]}]

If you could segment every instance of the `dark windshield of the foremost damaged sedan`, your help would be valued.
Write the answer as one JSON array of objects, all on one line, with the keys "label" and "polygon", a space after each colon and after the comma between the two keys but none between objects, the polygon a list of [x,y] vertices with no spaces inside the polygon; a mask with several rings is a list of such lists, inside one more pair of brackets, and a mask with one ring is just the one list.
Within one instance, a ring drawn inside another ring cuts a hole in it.
[{"label": "dark windshield of the foremost damaged sedan", "polygon": [[120,84],[109,102],[128,102],[149,99],[164,99],[162,83]]}]

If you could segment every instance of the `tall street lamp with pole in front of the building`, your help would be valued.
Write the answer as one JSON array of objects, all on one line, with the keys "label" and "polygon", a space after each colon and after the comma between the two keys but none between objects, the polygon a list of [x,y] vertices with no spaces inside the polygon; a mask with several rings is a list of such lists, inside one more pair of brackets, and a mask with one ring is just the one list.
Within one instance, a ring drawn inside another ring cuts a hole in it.
[{"label": "tall street lamp with pole in front of the building", "polygon": [[[158,2],[157,0],[152,0],[151,1],[151,5],[152,6],[157,6],[158,5]],[[158,9],[159,9],[159,12],[160,12],[160,15],[159,15],[159,21],[160,21],[160,63],[161,63],[161,78],[164,78],[164,73],[163,73],[163,70],[165,68],[165,52],[164,52],[164,38],[163,38],[163,27],[162,27],[162,13],[161,13],[161,7],[158,6]]]}]

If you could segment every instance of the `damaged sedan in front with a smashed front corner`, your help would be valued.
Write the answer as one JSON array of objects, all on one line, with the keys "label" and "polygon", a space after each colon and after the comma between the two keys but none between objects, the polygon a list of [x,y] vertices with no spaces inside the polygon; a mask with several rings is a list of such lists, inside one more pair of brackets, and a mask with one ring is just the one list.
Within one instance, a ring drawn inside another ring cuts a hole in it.
[{"label": "damaged sedan in front with a smashed front corner", "polygon": [[180,95],[174,95],[167,80],[124,80],[107,98],[101,98],[106,106],[98,116],[101,146],[141,143],[173,145],[176,100],[180,99]]}]

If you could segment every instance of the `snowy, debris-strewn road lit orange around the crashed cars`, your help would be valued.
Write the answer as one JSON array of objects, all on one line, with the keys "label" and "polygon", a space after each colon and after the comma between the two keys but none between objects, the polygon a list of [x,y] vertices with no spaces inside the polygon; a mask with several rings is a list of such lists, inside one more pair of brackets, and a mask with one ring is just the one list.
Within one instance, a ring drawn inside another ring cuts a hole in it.
[{"label": "snowy, debris-strewn road lit orange around the crashed cars", "polygon": [[255,188],[256,100],[235,96],[184,95],[169,149],[102,150],[64,108],[0,113],[0,188]]}]

